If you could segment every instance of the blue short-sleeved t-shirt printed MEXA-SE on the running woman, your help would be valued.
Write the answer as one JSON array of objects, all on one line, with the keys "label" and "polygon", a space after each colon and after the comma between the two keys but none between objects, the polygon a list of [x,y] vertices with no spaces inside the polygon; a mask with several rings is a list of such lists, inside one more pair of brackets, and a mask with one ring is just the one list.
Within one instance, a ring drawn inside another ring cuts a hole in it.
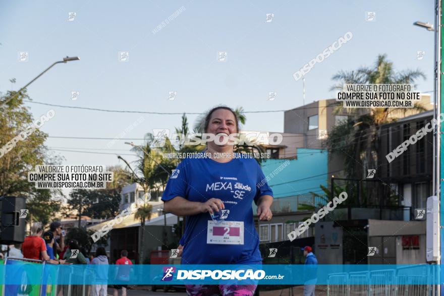
[{"label": "blue short-sleeved t-shirt printed MEXA-SE on the running woman", "polygon": [[186,158],[173,171],[163,201],[181,196],[193,202],[217,198],[230,210],[225,221],[244,222],[243,245],[207,244],[208,212],[187,217],[181,239],[182,264],[261,264],[259,236],[254,228],[252,202],[273,195],[254,158],[235,158],[221,163],[209,158]]}]

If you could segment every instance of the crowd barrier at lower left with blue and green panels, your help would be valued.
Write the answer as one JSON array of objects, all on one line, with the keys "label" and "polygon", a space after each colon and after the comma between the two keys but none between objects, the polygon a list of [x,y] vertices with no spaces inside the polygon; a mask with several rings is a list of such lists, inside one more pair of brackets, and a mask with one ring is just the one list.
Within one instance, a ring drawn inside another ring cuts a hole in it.
[{"label": "crowd barrier at lower left with blue and green panels", "polygon": [[[46,265],[50,265],[51,263],[42,262],[41,260],[7,258],[5,264],[26,266],[26,268],[18,268],[15,273],[6,273],[4,275],[5,278],[21,278],[21,284],[2,285],[1,296],[94,296],[94,285],[91,283],[95,282],[96,274],[93,269],[86,268],[79,273],[76,265],[72,265],[54,274],[53,272],[49,272],[48,268],[45,268]],[[42,264],[43,268],[37,266]],[[33,266],[38,268],[33,269]],[[33,277],[36,276],[36,272],[39,273],[41,284],[28,284],[29,275],[27,273],[30,272],[33,272]],[[57,282],[67,284],[57,284]],[[88,282],[88,284],[72,284],[72,282]]]}]

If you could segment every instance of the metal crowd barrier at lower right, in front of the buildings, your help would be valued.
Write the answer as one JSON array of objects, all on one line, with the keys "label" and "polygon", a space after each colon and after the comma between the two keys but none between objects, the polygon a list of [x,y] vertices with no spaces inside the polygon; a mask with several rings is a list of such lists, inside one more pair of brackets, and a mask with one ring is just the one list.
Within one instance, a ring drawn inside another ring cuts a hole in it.
[{"label": "metal crowd barrier at lower right, in front of the buildings", "polygon": [[[328,275],[327,296],[431,296],[431,284],[423,284],[430,269],[419,264],[417,274],[403,267],[396,270],[334,273]],[[364,284],[367,282],[368,284]]]}]

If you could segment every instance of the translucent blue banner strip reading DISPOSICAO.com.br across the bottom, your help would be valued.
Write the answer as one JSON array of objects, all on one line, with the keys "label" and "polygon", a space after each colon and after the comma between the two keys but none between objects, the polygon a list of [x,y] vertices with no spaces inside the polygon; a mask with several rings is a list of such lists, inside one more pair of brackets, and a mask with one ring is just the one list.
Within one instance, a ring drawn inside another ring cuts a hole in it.
[{"label": "translucent blue banner strip reading DISPOSICAO.com.br across the bottom", "polygon": [[439,284],[441,265],[0,265],[0,284]]}]

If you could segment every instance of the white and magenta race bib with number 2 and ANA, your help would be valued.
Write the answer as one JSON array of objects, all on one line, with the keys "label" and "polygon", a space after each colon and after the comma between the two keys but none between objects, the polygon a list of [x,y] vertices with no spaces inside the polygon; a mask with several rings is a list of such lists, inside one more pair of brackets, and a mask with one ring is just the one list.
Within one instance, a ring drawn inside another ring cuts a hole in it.
[{"label": "white and magenta race bib with number 2 and ANA", "polygon": [[244,222],[243,221],[208,221],[206,235],[207,244],[218,245],[243,245]]}]

